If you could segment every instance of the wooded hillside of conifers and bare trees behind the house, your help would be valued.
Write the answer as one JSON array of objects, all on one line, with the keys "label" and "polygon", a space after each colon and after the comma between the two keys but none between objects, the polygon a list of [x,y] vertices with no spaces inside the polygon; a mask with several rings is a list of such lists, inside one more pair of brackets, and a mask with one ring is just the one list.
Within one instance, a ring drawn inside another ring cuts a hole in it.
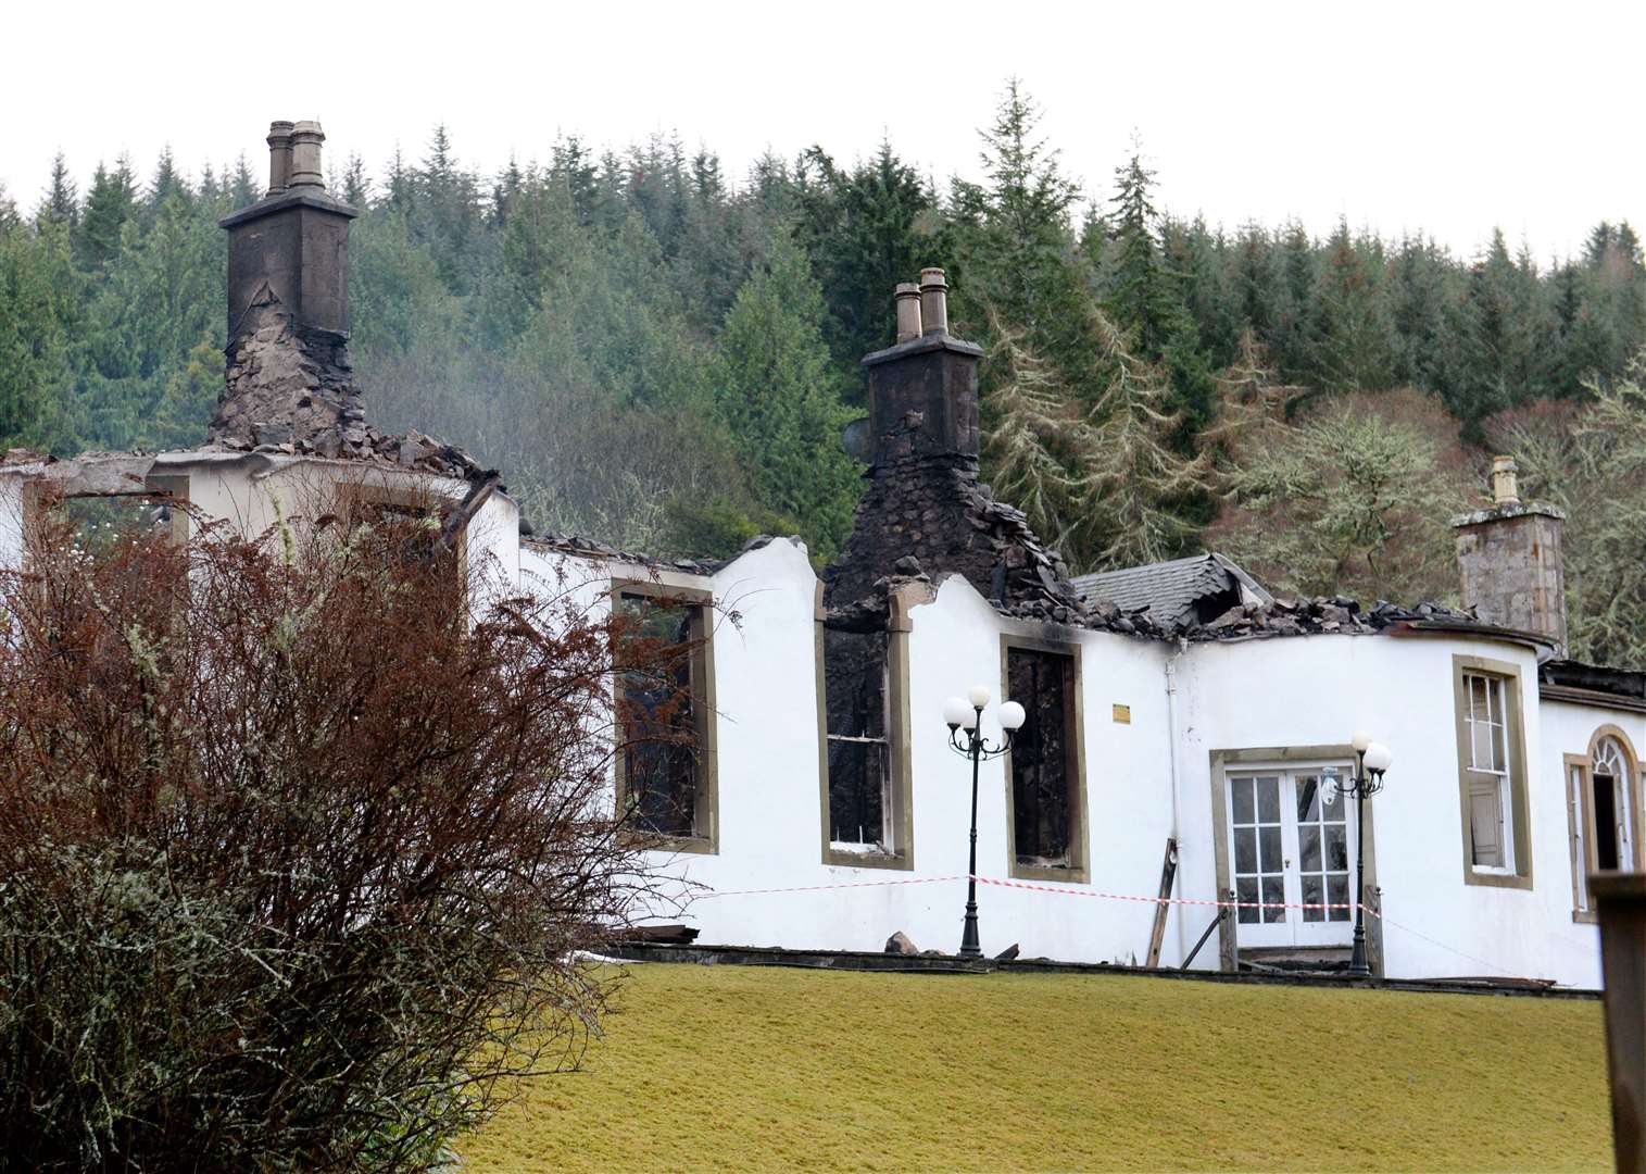
[{"label": "wooded hillside of conifers and bare trees behind the house", "polygon": [[[1495,450],[1567,504],[1574,652],[1646,662],[1646,262],[1626,221],[1546,259],[1483,226],[1458,257],[1346,222],[1160,209],[1141,150],[1093,201],[1016,84],[979,166],[938,183],[890,143],[739,179],[652,137],[482,176],[444,128],[331,178],[352,235],[354,362],[374,420],[502,468],[538,529],[726,553],[851,525],[858,359],[890,291],[943,265],[984,344],[984,476],[1076,570],[1215,547],[1281,589],[1445,599],[1450,512]],[[59,156],[0,193],[0,445],[204,436],[222,377],[224,234],[245,158],[194,175]]]}]

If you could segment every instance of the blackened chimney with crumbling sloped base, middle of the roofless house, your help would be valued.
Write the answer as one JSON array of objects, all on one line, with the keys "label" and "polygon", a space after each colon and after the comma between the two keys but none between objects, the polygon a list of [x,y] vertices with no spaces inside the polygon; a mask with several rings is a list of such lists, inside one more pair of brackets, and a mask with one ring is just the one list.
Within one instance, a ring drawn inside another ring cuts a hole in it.
[{"label": "blackened chimney with crumbling sloped base, middle of the roofless house", "polygon": [[978,364],[983,347],[948,333],[943,270],[894,293],[897,342],[869,370],[869,487],[846,550],[823,573],[825,608],[884,611],[899,576],[965,575],[1007,609],[1053,619],[1080,609],[1067,568],[1017,509],[978,482]]}]

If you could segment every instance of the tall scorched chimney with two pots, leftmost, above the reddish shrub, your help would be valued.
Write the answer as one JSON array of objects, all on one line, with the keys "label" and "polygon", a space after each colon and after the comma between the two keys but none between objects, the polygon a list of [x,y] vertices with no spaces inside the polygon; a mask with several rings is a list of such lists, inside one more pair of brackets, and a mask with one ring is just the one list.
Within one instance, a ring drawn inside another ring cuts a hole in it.
[{"label": "tall scorched chimney with two pots, leftmost, above the reddish shrub", "polygon": [[[364,435],[349,366],[349,221],[326,191],[318,122],[268,127],[268,194],[226,216],[229,346],[211,438],[336,454]],[[356,436],[357,438],[357,436]]]}]

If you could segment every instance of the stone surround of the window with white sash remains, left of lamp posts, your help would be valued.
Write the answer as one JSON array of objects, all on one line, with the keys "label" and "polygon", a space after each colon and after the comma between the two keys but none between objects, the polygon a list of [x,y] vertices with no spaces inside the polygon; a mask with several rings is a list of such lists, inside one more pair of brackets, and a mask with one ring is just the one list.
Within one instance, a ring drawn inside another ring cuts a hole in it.
[{"label": "stone surround of the window with white sash remains, left of lamp posts", "polygon": [[932,593],[918,583],[895,588],[887,603],[886,631],[886,759],[889,767],[887,804],[892,827],[892,851],[869,853],[836,848],[830,838],[828,813],[828,688],[823,664],[823,583],[816,585],[811,608],[813,662],[816,678],[818,711],[818,828],[821,835],[821,860],[838,868],[887,868],[912,871],[915,866],[914,823],[914,762],[912,731],[909,718],[909,634],[914,631],[912,611],[930,603]]}]

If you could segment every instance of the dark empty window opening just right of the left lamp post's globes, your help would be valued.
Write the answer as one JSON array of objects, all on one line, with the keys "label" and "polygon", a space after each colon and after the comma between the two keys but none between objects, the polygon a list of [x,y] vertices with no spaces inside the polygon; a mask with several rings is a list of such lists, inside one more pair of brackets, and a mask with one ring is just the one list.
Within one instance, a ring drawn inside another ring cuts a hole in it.
[{"label": "dark empty window opening just right of the left lamp post's globes", "polygon": [[1025,713],[1007,759],[1016,861],[1037,868],[1078,868],[1075,657],[1042,649],[1007,649],[1006,695]]}]

